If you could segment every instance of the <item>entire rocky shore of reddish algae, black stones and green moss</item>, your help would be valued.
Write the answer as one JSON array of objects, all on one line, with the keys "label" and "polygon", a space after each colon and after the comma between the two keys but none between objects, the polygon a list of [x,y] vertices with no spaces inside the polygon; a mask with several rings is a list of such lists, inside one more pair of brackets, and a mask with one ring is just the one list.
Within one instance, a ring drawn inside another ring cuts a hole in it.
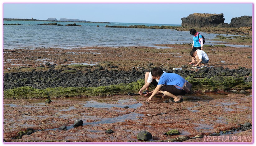
[{"label": "entire rocky shore of reddish algae, black stones and green moss", "polygon": [[[191,44],[156,45],[164,49],[4,49],[4,142],[251,143],[252,47],[205,45],[210,61],[198,69],[188,64]],[[182,103],[147,102],[136,93],[153,67],[183,76],[193,92]]]}]

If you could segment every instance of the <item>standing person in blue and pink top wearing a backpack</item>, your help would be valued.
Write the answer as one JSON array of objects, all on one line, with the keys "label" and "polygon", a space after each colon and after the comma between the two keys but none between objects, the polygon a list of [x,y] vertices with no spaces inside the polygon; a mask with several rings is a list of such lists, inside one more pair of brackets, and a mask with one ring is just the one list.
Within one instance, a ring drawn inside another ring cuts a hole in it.
[{"label": "standing person in blue and pink top wearing a backpack", "polygon": [[[193,35],[193,44],[192,44],[192,50],[203,50],[203,38],[202,35],[199,34],[195,29],[190,29],[190,34]],[[199,34],[199,36],[198,36]],[[189,62],[189,64],[195,64],[195,59],[192,56],[192,62]]]}]

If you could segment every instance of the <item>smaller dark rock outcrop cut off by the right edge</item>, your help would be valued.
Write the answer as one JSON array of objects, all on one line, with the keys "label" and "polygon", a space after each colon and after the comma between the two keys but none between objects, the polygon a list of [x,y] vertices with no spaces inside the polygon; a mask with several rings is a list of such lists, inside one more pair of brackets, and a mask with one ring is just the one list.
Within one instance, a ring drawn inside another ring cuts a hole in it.
[{"label": "smaller dark rock outcrop cut off by the right edge", "polygon": [[253,17],[252,16],[241,16],[231,19],[229,27],[252,27],[253,26]]}]

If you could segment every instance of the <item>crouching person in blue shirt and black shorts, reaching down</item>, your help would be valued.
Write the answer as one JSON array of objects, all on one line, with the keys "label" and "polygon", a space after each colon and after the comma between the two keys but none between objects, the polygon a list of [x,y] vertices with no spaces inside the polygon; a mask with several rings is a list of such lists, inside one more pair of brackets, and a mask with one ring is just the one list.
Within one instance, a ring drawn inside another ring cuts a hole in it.
[{"label": "crouching person in blue shirt and black shorts, reaching down", "polygon": [[187,82],[183,77],[175,73],[163,73],[160,67],[153,68],[151,74],[153,79],[158,79],[159,82],[154,92],[146,101],[151,101],[151,98],[161,90],[163,94],[174,98],[172,102],[182,102],[181,95],[187,94],[187,92],[175,86],[183,87],[183,84]]}]

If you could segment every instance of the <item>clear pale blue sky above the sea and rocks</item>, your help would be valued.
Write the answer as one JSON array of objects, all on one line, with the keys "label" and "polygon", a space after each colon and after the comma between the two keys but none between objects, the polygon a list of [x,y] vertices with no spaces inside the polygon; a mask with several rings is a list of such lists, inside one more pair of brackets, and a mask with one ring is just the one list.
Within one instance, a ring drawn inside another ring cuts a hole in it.
[{"label": "clear pale blue sky above the sea and rocks", "polygon": [[[177,2],[177,1],[176,1]],[[252,3],[3,3],[3,18],[46,20],[49,17],[87,21],[181,24],[193,13],[224,14],[225,23],[233,17],[253,15]]]}]

